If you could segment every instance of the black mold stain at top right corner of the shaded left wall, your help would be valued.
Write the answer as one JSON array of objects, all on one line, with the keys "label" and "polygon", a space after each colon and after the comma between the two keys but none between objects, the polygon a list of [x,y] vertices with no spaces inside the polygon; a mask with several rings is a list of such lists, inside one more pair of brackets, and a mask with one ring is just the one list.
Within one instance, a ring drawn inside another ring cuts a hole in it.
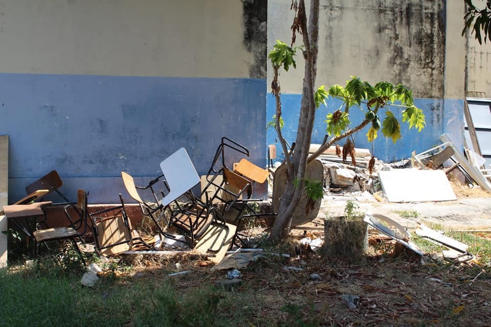
[{"label": "black mold stain at top right corner of the shaded left wall", "polygon": [[242,0],[244,45],[253,54],[249,77],[266,78],[267,0]]}]

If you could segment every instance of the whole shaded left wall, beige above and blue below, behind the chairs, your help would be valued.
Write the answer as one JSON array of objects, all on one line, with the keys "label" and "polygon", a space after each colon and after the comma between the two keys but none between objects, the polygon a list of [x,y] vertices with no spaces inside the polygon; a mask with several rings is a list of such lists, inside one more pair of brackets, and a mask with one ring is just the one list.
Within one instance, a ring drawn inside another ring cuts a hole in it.
[{"label": "whole shaded left wall, beige above and blue below, behind the chairs", "polygon": [[224,135],[263,165],[265,20],[263,1],[3,1],[9,202],[53,169],[114,202],[121,171],[148,181],[185,147],[203,174]]}]

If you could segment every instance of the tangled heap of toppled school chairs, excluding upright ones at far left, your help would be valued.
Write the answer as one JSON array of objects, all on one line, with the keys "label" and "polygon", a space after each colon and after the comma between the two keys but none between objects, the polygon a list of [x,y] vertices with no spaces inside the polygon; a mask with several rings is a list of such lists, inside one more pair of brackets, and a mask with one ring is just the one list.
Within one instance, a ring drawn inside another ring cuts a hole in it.
[{"label": "tangled heap of toppled school chairs, excluding upright ones at far left", "polygon": [[[126,191],[139,204],[143,217],[153,222],[158,235],[150,240],[138,235],[120,194],[120,206],[90,215],[97,251],[112,255],[197,249],[218,259],[229,248],[250,244],[249,222],[258,215],[250,205],[257,201],[252,198],[253,183],[265,182],[268,173],[244,156],[249,156],[247,148],[222,137],[202,178],[184,148],[163,160],[162,174],[144,186],[122,172]],[[234,161],[238,163],[231,165]],[[198,184],[202,191],[196,196],[192,190]],[[144,195],[151,200],[144,200]]]}]

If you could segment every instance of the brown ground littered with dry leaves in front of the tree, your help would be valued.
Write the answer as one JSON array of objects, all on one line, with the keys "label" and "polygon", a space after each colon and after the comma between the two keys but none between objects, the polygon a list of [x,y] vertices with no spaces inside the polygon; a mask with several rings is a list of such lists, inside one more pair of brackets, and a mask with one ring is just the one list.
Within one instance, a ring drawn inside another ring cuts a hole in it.
[{"label": "brown ground littered with dry leaves in front of the tree", "polygon": [[[232,301],[224,306],[220,314],[247,309],[251,326],[491,325],[491,274],[487,267],[431,260],[422,263],[418,255],[391,244],[383,251],[380,247],[371,250],[373,253],[358,263],[327,259],[310,251],[295,256],[293,250],[289,259],[266,255],[240,269],[240,286],[216,289],[223,298],[241,299],[236,305]],[[149,283],[172,278],[180,292],[213,287],[216,281],[226,279],[226,271],[211,272],[212,263],[189,255],[124,260],[134,267],[131,278],[148,278]],[[287,266],[303,270],[285,270]],[[191,272],[167,276],[178,270]],[[312,280],[313,273],[320,280]],[[359,297],[355,308],[348,308],[343,294]]]}]

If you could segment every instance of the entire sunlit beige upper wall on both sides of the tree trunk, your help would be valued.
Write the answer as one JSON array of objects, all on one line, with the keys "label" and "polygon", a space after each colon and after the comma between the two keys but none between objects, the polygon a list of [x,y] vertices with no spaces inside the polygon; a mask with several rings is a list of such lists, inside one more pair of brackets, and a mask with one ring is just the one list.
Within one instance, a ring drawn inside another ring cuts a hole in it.
[{"label": "entire sunlit beige upper wall on both sides of the tree trunk", "polygon": [[[462,12],[458,20],[461,21],[463,5],[455,3]],[[415,97],[443,98],[444,10],[442,2],[437,0],[321,0],[318,86],[344,85],[351,75],[356,75],[370,83],[381,80],[402,83],[413,90]],[[289,27],[294,13],[282,0],[270,0],[268,11],[268,49],[271,50],[276,39],[291,41]],[[459,14],[454,9],[452,13]],[[455,41],[455,47],[459,48],[455,51],[460,53],[447,62],[458,69],[462,67],[459,71],[462,77],[464,44],[462,38]],[[280,82],[284,93],[301,92],[303,64],[299,56],[296,71],[282,73]],[[270,63],[268,67],[271,80]],[[460,85],[449,84],[446,88],[452,96],[463,94],[463,78]]]}]

